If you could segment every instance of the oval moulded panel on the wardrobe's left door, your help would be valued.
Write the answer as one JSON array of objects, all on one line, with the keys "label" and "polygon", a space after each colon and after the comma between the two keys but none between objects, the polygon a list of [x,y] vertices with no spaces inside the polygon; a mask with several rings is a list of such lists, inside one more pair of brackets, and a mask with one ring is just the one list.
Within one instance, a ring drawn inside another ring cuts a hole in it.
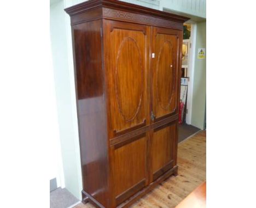
[{"label": "oval moulded panel on the wardrobe's left door", "polygon": [[133,38],[123,39],[118,49],[115,90],[118,108],[125,120],[138,114],[142,100],[143,68],[138,45]]}]

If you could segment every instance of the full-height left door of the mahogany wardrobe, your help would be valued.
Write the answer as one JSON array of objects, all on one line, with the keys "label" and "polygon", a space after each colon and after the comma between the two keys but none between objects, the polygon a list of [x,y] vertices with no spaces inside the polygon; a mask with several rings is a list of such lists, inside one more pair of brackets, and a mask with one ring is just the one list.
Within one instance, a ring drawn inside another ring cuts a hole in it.
[{"label": "full-height left door of the mahogany wardrobe", "polygon": [[[104,20],[104,66],[113,198],[117,206],[146,186],[149,27]],[[127,134],[130,133],[130,134]]]}]

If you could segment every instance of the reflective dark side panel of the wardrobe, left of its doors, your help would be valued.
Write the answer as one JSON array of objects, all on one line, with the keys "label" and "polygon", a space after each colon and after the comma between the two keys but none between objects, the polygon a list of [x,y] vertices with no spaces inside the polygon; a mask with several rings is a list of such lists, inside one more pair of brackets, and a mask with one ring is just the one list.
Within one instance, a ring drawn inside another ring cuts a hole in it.
[{"label": "reflective dark side panel of the wardrobe, left of its doors", "polygon": [[108,139],[101,20],[80,23],[72,29],[83,189],[107,206]]}]

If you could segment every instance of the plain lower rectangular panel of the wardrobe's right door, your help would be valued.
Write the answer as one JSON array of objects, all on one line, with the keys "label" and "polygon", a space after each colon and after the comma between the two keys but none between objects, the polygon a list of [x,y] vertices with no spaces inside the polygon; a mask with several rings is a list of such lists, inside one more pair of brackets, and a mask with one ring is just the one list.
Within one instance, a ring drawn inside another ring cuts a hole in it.
[{"label": "plain lower rectangular panel of the wardrobe's right door", "polygon": [[176,123],[154,129],[150,149],[150,181],[155,181],[174,166],[177,154]]}]

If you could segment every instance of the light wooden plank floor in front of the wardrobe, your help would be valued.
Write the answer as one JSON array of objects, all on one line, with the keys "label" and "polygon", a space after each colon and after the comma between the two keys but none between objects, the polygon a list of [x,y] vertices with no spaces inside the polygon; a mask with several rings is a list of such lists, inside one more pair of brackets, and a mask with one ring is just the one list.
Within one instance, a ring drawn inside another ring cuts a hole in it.
[{"label": "light wooden plank floor in front of the wardrobe", "polygon": [[[178,175],[171,176],[131,207],[172,208],[206,180],[206,131],[178,144]],[[90,203],[75,208],[92,208]]]}]

